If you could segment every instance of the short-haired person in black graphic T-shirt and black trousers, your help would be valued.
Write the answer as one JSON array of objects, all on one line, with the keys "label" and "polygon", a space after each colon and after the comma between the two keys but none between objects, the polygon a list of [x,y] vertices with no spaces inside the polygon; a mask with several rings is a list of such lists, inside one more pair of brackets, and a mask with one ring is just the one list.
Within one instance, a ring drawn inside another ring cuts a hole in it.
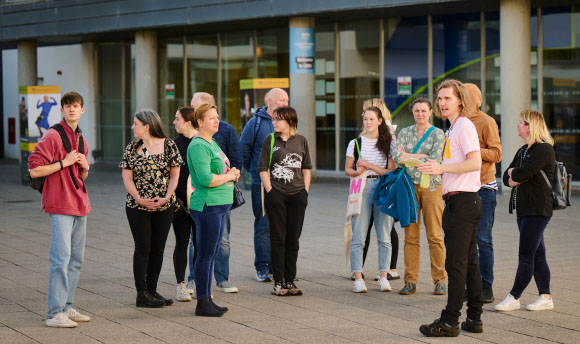
[{"label": "short-haired person in black graphic T-shirt and black trousers", "polygon": [[270,222],[272,294],[302,295],[294,279],[312,163],[306,138],[296,134],[296,110],[289,106],[277,108],[272,124],[275,133],[264,140],[258,163]]}]

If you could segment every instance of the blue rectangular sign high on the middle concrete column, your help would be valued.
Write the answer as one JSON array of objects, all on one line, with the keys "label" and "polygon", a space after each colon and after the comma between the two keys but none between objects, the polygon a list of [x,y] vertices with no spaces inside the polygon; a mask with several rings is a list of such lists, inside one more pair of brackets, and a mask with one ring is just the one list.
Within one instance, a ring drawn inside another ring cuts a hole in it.
[{"label": "blue rectangular sign high on the middle concrete column", "polygon": [[314,74],[314,28],[290,28],[290,74]]}]

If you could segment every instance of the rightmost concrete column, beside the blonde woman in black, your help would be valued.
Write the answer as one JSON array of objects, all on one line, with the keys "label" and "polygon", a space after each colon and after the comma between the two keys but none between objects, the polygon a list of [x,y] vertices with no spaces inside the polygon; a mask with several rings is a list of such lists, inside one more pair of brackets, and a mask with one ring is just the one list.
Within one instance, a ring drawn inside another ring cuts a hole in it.
[{"label": "rightmost concrete column, beside the blonde woman in black", "polygon": [[523,144],[516,125],[531,106],[530,0],[501,0],[501,141],[502,173]]}]

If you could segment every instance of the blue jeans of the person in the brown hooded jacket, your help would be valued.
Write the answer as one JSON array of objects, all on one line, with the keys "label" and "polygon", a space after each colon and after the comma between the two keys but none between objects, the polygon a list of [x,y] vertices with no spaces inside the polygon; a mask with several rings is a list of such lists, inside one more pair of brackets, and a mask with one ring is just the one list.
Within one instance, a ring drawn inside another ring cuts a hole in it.
[{"label": "blue jeans of the person in the brown hooded jacket", "polygon": [[495,190],[480,189],[477,194],[481,197],[481,221],[477,226],[477,255],[481,270],[481,283],[484,288],[491,288],[493,284],[493,240],[492,229],[495,218]]}]

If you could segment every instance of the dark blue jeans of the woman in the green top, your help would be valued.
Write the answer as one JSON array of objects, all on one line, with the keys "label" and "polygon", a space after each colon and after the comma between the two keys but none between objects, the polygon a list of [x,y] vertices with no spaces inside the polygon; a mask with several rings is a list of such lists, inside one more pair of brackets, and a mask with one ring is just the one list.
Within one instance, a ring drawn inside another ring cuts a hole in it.
[{"label": "dark blue jeans of the woman in the green top", "polygon": [[197,258],[195,259],[195,287],[198,299],[208,299],[211,295],[211,275],[214,268],[223,230],[226,213],[231,204],[207,206],[202,211],[191,210],[197,238]]}]

